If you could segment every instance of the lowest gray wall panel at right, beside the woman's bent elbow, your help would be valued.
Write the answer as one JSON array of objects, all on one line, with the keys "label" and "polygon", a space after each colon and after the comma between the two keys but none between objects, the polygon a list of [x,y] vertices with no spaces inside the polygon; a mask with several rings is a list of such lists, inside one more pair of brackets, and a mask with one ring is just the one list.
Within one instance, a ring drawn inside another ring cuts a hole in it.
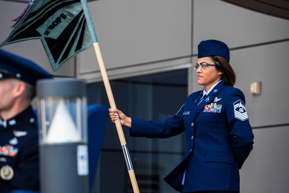
[{"label": "lowest gray wall panel at right, beside the woman's bent elbow", "polygon": [[253,133],[253,150],[240,170],[240,192],[288,192],[289,127],[254,129]]}]

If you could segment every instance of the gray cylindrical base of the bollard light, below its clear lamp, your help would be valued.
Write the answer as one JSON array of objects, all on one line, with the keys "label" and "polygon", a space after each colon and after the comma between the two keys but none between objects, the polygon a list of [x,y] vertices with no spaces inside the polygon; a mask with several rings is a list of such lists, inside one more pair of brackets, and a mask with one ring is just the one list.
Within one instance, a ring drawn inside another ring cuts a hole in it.
[{"label": "gray cylindrical base of the bollard light, below its clear lamp", "polygon": [[40,146],[42,193],[88,193],[88,175],[77,172],[79,143]]}]

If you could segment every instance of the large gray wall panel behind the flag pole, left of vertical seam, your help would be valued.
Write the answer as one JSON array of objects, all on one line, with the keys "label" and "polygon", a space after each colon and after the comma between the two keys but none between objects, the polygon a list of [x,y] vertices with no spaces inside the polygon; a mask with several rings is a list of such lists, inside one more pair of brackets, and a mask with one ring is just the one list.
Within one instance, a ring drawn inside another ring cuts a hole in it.
[{"label": "large gray wall panel behind the flag pole, left of vertical seam", "polygon": [[[109,78],[190,64],[191,1],[99,0],[88,7]],[[101,78],[93,48],[77,56],[77,65],[79,77]]]}]

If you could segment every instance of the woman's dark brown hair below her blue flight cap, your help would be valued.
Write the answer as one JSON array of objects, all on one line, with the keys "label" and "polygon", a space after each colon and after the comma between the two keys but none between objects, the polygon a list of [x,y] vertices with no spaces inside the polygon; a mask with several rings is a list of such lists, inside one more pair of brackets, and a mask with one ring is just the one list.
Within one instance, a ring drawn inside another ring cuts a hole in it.
[{"label": "woman's dark brown hair below her blue flight cap", "polygon": [[222,79],[224,84],[229,85],[231,87],[236,83],[236,73],[231,67],[229,61],[223,56],[209,56],[211,60],[216,65],[216,69],[222,71]]}]

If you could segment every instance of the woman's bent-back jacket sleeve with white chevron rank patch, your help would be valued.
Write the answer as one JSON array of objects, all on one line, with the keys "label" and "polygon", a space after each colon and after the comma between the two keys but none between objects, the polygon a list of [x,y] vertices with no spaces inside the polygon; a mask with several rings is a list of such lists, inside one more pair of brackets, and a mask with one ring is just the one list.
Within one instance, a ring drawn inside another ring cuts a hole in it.
[{"label": "woman's bent-back jacket sleeve with white chevron rank patch", "polygon": [[254,135],[245,108],[245,97],[239,89],[234,89],[229,94],[226,102],[226,115],[231,130],[230,134],[234,136],[234,154],[238,167],[241,169],[253,149]]}]

